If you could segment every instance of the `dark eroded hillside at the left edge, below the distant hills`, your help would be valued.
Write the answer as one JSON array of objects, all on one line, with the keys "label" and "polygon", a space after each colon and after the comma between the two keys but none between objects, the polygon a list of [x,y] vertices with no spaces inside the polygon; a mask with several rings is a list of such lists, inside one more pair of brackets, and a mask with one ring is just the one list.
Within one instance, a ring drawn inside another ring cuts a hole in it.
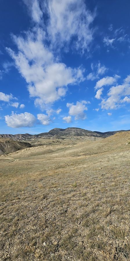
[{"label": "dark eroded hillside at the left edge, below the distant hills", "polygon": [[32,147],[32,145],[28,142],[19,142],[12,139],[0,138],[0,155],[12,153],[30,147]]}]

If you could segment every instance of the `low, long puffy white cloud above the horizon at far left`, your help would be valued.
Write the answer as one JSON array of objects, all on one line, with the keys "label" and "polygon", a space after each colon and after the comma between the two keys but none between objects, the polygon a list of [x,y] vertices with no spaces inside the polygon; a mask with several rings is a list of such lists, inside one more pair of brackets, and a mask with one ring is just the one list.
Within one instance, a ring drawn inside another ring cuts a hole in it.
[{"label": "low, long puffy white cloud above the horizon at far left", "polygon": [[35,121],[35,116],[27,112],[20,114],[12,112],[11,116],[5,116],[6,124],[12,128],[32,127],[35,124]]}]

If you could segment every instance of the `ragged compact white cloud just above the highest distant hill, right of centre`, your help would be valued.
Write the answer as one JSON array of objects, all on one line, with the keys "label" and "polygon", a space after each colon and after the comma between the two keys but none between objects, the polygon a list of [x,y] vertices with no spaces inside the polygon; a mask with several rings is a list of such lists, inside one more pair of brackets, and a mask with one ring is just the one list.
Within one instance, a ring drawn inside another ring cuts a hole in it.
[{"label": "ragged compact white cloud just above the highest distant hill, right of centre", "polygon": [[84,113],[85,110],[88,110],[86,104],[86,101],[76,102],[76,105],[73,103],[67,103],[66,106],[69,108],[69,115],[75,116],[75,120],[86,119],[86,115]]}]

